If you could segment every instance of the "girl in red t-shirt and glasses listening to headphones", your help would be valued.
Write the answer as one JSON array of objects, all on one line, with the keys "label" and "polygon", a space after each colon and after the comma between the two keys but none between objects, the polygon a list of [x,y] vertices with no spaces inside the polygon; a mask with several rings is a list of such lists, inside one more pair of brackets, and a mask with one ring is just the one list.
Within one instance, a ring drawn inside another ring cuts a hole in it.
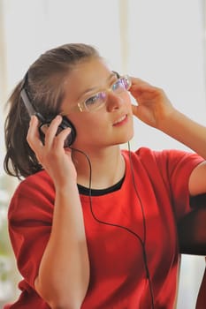
[{"label": "girl in red t-shirt and glasses listening to headphones", "polygon": [[[121,150],[134,116],[198,155]],[[176,225],[206,192],[205,136],[162,89],[118,76],[91,46],[39,57],[5,123],[4,168],[25,178],[9,208],[23,280],[7,308],[173,308]]]}]

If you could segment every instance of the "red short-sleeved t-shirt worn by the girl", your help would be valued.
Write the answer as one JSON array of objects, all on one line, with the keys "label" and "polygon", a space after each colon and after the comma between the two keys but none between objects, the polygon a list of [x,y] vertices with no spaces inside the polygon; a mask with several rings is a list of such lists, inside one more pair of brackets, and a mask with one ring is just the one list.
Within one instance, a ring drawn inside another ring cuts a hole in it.
[{"label": "red short-sleeved t-shirt worn by the girl", "polygon": [[[179,274],[176,222],[190,211],[188,178],[202,158],[140,148],[131,153],[131,169],[128,151],[122,154],[126,176],[121,188],[91,199],[100,222],[92,215],[89,197],[80,195],[90,260],[81,308],[151,308],[141,245],[145,237],[155,308],[172,309]],[[9,231],[23,280],[19,300],[8,308],[50,308],[35,292],[34,280],[50,237],[54,200],[54,185],[45,171],[22,181],[11,199]]]}]

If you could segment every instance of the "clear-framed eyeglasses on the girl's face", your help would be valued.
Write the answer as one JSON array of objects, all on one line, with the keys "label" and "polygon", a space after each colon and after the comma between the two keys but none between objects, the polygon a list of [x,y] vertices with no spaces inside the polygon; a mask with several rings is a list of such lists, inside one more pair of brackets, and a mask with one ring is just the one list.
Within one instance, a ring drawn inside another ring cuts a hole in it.
[{"label": "clear-framed eyeglasses on the girl's face", "polygon": [[90,96],[84,102],[78,103],[77,106],[80,111],[95,111],[97,109],[101,109],[107,100],[108,92],[122,94],[123,92],[129,90],[131,85],[132,81],[128,75],[121,76],[111,85],[109,89]]}]

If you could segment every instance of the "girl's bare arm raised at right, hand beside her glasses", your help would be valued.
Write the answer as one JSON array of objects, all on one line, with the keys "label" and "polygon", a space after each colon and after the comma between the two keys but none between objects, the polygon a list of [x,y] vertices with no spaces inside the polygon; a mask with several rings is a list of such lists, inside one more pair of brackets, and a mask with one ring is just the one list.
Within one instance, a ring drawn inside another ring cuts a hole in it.
[{"label": "girl's bare arm raised at right, hand beside her glasses", "polygon": [[[141,79],[132,78],[131,94],[138,105],[133,106],[134,115],[146,124],[179,140],[195,153],[206,159],[206,127],[195,123],[174,109],[164,91]],[[189,179],[191,196],[206,192],[206,164],[203,162],[193,170]]]}]

